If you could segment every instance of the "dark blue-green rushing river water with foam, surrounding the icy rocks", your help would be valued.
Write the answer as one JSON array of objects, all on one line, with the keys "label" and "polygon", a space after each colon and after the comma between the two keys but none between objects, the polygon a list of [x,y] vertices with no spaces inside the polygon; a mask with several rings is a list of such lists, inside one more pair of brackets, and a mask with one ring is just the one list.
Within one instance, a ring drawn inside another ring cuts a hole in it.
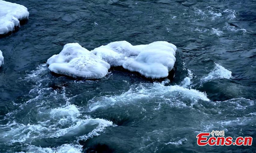
[{"label": "dark blue-green rushing river water with foam, surrounding the icy rocks", "polygon": [[[253,152],[198,146],[200,132],[256,139],[255,0],[10,0],[29,20],[0,38],[0,152]],[[67,43],[168,41],[173,80],[111,69],[98,80],[45,62]]]}]

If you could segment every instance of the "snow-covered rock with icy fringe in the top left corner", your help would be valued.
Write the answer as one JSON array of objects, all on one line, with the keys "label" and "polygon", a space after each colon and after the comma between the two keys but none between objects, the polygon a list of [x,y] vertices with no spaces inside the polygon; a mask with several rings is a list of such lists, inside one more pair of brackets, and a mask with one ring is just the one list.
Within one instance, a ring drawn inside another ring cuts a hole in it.
[{"label": "snow-covered rock with icy fringe in the top left corner", "polygon": [[0,0],[0,34],[6,34],[20,25],[22,19],[29,16],[28,9],[20,4]]}]

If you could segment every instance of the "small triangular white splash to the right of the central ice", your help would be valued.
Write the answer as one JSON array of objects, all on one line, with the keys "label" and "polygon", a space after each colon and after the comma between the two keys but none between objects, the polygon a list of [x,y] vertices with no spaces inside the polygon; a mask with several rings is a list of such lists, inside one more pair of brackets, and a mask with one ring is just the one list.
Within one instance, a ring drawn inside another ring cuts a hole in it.
[{"label": "small triangular white splash to the right of the central ice", "polygon": [[208,82],[215,79],[230,79],[232,77],[232,72],[225,69],[223,66],[215,63],[214,69],[204,78],[201,82]]}]

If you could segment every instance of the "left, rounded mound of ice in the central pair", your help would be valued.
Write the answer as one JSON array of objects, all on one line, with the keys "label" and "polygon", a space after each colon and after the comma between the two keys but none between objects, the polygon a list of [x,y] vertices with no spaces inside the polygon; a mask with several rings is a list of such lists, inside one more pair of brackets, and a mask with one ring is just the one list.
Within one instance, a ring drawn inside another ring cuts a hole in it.
[{"label": "left, rounded mound of ice in the central pair", "polygon": [[60,54],[47,60],[49,69],[58,74],[85,79],[107,75],[110,65],[78,43],[66,44]]}]

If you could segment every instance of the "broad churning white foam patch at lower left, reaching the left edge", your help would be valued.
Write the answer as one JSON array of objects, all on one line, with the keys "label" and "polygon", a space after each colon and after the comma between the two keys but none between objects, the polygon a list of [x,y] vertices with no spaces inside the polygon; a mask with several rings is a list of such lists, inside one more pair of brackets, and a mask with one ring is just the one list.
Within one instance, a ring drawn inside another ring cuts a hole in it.
[{"label": "broad churning white foam patch at lower left, reaching the left edge", "polygon": [[[79,108],[75,105],[66,105],[54,108],[50,112],[46,108],[39,114],[44,116],[37,124],[8,123],[1,126],[0,136],[7,143],[31,143],[40,139],[77,137],[77,141],[86,140],[100,135],[113,123],[103,119],[92,119],[90,116],[81,116]],[[4,130],[3,130],[4,129]]]}]

